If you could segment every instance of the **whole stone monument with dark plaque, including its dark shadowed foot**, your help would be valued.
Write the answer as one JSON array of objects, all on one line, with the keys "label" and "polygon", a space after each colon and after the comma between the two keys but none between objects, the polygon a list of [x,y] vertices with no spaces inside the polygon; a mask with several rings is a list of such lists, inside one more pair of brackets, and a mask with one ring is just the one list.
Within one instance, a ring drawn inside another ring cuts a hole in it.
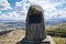
[{"label": "whole stone monument with dark plaque, including its dark shadowed foot", "polygon": [[25,37],[16,44],[50,44],[46,38],[43,9],[31,6],[26,16]]}]

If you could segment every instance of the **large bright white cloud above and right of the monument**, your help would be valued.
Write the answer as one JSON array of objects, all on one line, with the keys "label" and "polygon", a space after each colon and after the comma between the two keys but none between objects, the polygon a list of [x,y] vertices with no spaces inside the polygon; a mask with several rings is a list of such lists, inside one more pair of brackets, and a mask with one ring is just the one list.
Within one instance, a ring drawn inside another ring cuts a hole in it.
[{"label": "large bright white cloud above and right of the monument", "polygon": [[[54,18],[65,18],[66,14],[62,13],[64,12],[59,11],[55,8],[57,6],[61,6],[63,3],[65,3],[65,0],[29,0],[32,4],[38,4],[44,9],[44,16],[45,19],[54,19]],[[64,15],[63,15],[64,14]]]}]

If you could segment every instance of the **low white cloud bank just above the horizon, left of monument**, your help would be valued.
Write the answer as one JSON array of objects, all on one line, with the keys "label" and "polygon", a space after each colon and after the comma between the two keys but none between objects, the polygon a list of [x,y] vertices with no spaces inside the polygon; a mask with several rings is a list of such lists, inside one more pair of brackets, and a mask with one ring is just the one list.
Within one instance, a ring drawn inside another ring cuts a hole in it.
[{"label": "low white cloud bank just above the horizon, left of monument", "polygon": [[9,14],[0,14],[0,20],[25,20],[25,15],[20,15],[15,11],[9,12]]}]

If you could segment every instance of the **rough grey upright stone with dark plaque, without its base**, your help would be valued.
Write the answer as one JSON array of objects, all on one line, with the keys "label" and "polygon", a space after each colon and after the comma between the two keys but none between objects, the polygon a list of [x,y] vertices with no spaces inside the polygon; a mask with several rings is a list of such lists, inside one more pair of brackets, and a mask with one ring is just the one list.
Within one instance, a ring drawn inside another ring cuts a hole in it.
[{"label": "rough grey upright stone with dark plaque, without its base", "polygon": [[43,10],[38,6],[31,6],[26,16],[26,40],[44,40],[45,25]]}]

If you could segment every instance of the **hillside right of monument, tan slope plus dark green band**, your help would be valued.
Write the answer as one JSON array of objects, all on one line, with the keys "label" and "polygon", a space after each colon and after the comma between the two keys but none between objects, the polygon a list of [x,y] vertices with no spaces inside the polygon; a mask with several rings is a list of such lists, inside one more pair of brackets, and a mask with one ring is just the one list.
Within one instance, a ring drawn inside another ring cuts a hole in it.
[{"label": "hillside right of monument, tan slope plus dark green band", "polygon": [[62,24],[46,28],[46,32],[47,32],[47,34],[53,35],[53,36],[56,35],[56,36],[66,37],[66,23],[62,23]]}]

